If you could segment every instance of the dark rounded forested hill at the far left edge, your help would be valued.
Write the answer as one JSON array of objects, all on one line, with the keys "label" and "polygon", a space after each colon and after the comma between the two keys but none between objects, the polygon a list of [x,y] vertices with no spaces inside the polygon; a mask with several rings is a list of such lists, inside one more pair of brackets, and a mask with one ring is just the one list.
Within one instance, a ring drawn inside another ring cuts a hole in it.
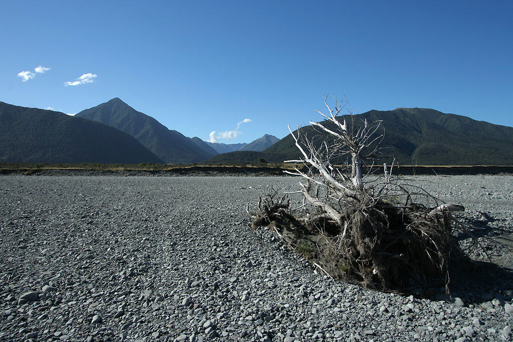
[{"label": "dark rounded forested hill at the far left edge", "polygon": [[90,120],[0,102],[2,163],[162,163],[130,135]]}]

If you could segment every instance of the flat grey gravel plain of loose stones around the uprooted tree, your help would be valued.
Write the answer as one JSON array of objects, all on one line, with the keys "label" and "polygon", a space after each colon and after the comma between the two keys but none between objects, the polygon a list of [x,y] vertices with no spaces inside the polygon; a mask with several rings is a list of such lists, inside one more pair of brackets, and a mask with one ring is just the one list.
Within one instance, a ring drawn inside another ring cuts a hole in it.
[{"label": "flat grey gravel plain of loose stones around the uprooted tree", "polygon": [[252,230],[246,204],[299,178],[0,176],[0,341],[511,340],[513,176],[409,178],[494,261],[451,297],[326,278]]}]

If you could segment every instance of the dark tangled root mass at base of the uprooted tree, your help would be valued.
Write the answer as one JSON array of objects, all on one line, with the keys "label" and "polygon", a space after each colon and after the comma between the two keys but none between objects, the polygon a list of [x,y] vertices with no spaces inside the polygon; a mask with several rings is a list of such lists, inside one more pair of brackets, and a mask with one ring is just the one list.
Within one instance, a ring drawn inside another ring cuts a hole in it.
[{"label": "dark tangled root mass at base of the uprooted tree", "polygon": [[448,292],[449,264],[463,257],[447,211],[378,202],[347,209],[341,226],[325,215],[296,218],[286,212],[283,198],[262,203],[253,228],[272,227],[321,272],[366,288],[406,291],[443,284]]}]

